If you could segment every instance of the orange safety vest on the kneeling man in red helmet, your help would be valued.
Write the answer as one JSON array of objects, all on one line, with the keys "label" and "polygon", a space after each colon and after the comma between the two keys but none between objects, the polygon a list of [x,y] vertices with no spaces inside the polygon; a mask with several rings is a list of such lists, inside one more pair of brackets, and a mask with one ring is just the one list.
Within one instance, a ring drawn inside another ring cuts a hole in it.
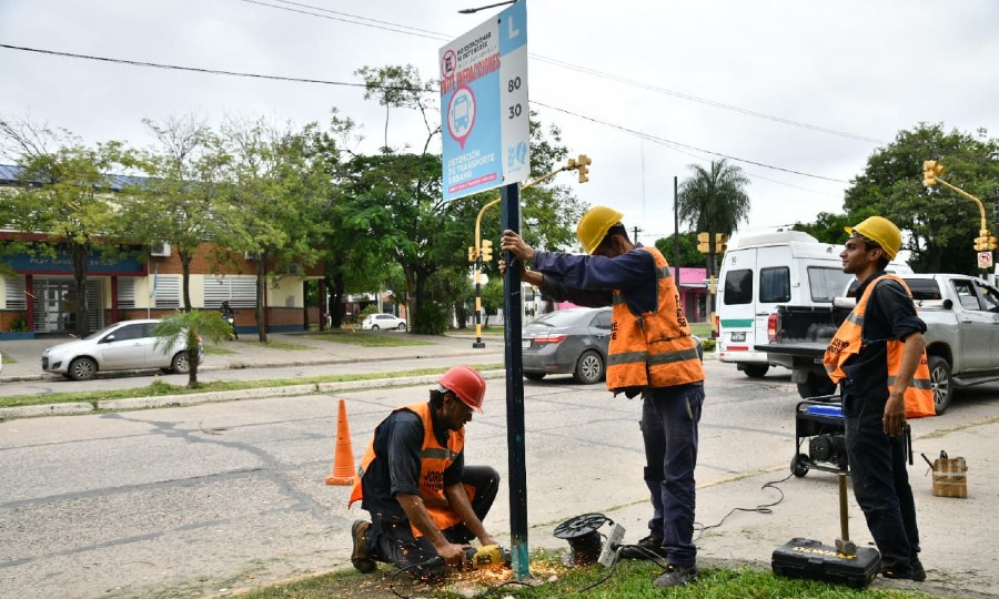
[{"label": "orange safety vest on the kneeling man in red helmet", "polygon": [[[403,409],[412,412],[423,420],[423,447],[420,450],[420,499],[423,500],[426,512],[437,528],[441,530],[451,528],[461,522],[462,519],[450,508],[447,498],[444,497],[444,470],[454,464],[455,458],[462,453],[462,448],[465,446],[465,428],[462,427],[461,430],[450,432],[447,435],[447,447],[443,447],[434,436],[434,423],[431,417],[430,404],[413,404],[412,406],[394,409],[392,413],[395,414]],[[364,457],[361,458],[357,476],[354,477],[354,488],[351,490],[347,508],[354,501],[364,497],[361,479],[376,457],[379,456],[375,455],[374,436],[372,436],[371,441],[367,444],[367,449],[364,451]],[[465,485],[465,490],[471,499],[475,489]],[[410,526],[413,529],[413,536],[420,537],[423,535],[412,522]]]}]

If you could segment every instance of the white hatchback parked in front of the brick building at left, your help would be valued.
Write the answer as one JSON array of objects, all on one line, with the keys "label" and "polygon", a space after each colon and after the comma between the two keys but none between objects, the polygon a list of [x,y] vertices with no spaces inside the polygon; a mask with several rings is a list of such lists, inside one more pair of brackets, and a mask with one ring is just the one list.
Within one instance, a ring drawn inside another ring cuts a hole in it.
[{"label": "white hatchback parked in front of the brick building at left", "polygon": [[[160,321],[124,321],[90,336],[53,345],[42,353],[42,370],[73,380],[89,380],[98,372],[161,368],[184,374],[190,370],[183,339],[157,347],[153,327]],[[204,347],[198,363],[204,362]]]}]

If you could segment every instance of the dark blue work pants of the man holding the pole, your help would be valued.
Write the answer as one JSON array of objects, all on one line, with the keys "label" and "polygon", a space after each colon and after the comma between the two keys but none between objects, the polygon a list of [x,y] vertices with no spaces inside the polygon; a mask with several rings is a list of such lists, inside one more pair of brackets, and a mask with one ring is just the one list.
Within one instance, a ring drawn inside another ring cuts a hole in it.
[{"label": "dark blue work pants of the man holding the pole", "polygon": [[645,484],[653,505],[652,535],[663,539],[673,566],[693,566],[697,424],[704,405],[702,384],[646,389],[642,395]]}]

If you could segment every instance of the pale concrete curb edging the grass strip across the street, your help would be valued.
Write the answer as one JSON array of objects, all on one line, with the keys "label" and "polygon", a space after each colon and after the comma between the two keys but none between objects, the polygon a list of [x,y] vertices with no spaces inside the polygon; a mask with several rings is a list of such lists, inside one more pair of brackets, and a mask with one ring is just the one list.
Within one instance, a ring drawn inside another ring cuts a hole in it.
[{"label": "pale concrete curb edging the grass strip across the street", "polygon": [[[505,378],[506,370],[485,370],[483,378]],[[259,387],[254,389],[236,389],[229,392],[190,393],[182,395],[158,395],[154,397],[127,397],[107,399],[97,403],[97,408],[85,402],[68,404],[43,404],[37,406],[19,406],[0,408],[0,420],[30,418],[37,416],[68,416],[91,414],[95,410],[115,412],[123,409],[150,409],[163,407],[192,406],[212,402],[238,402],[241,399],[262,399],[314,393],[335,393],[343,390],[373,389],[384,387],[405,387],[410,385],[431,385],[437,382],[437,375],[400,376],[394,378],[367,378],[364,380],[346,380],[342,383],[314,383],[309,385],[289,385],[286,387]]]}]

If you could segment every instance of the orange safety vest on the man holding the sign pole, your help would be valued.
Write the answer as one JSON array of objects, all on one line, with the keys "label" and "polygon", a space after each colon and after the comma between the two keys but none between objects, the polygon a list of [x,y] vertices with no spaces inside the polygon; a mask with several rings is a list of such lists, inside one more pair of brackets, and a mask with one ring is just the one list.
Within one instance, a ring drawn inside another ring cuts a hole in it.
[{"label": "orange safety vest on the man holding the sign pole", "polygon": [[669,264],[655,247],[639,247],[656,262],[656,309],[635,314],[614,290],[607,388],[674,387],[704,380],[704,365],[684,314]]}]

